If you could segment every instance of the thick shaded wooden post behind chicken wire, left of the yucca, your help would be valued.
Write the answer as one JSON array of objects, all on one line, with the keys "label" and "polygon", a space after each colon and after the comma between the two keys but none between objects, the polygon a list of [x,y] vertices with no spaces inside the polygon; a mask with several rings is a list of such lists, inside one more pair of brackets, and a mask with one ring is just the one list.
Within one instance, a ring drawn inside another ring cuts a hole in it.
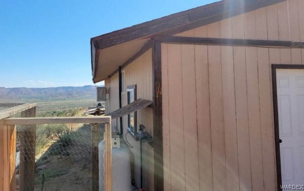
[{"label": "thick shaded wooden post behind chicken wire, left of the yucca", "polygon": [[[36,117],[36,107],[21,112],[21,117]],[[34,190],[36,125],[20,131],[19,190]]]}]

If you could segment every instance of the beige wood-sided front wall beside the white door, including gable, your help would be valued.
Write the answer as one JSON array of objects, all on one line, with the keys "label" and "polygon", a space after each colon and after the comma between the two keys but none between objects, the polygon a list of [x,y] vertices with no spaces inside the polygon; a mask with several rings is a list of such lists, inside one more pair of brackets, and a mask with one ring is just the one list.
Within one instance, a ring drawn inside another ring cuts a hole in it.
[{"label": "beige wood-sided front wall beside the white door, including gable", "polygon": [[[302,0],[178,35],[304,41]],[[276,190],[271,64],[304,50],[162,44],[164,190]]]}]

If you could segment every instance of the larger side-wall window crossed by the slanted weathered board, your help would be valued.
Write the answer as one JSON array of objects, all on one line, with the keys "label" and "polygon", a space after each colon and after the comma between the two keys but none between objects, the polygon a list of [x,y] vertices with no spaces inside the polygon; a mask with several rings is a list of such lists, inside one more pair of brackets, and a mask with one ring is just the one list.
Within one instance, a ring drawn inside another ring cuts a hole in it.
[{"label": "larger side-wall window crossed by the slanted weathered board", "polygon": [[[136,100],[136,85],[127,86],[127,99],[128,104]],[[133,134],[135,134],[137,131],[136,122],[136,111],[128,114],[128,130],[131,131]]]}]

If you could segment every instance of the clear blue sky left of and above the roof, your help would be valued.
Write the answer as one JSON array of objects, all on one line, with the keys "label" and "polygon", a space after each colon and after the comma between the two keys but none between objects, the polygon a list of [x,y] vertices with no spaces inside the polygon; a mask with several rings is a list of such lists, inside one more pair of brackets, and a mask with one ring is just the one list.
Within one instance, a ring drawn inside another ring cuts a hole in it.
[{"label": "clear blue sky left of and above the roof", "polygon": [[94,85],[91,37],[216,1],[0,0],[0,87]]}]

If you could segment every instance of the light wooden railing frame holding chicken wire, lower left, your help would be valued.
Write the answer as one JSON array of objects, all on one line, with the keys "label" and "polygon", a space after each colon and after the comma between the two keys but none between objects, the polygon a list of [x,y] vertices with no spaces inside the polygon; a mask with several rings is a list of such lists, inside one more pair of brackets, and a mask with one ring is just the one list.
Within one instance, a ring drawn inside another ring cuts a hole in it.
[{"label": "light wooden railing frame holding chicken wire, lower left", "polygon": [[[25,106],[25,107],[24,107]],[[36,124],[94,124],[91,126],[92,133],[92,190],[99,190],[99,162],[98,162],[98,138],[99,138],[99,125],[104,124],[104,140],[105,140],[105,191],[111,190],[111,117],[63,117],[63,118],[35,118],[33,116],[24,116],[22,112],[28,109],[35,111],[35,105],[23,105],[17,106],[14,110],[8,112],[8,114],[0,113],[0,190],[16,190],[15,183],[15,162],[16,162],[16,125],[27,125],[25,131],[35,132]],[[9,118],[12,113],[21,112],[22,118]],[[35,112],[30,112],[35,113]],[[33,136],[27,137],[26,145],[31,144],[31,141],[35,141],[34,133],[30,133]],[[24,134],[28,136],[28,133]],[[23,136],[23,135],[20,135]],[[28,150],[35,148],[28,148]],[[34,155],[34,152],[27,151],[26,155]],[[23,154],[25,155],[25,154]],[[20,159],[22,154],[20,153]],[[34,168],[35,157],[31,156],[33,160],[20,160],[19,171],[19,190],[34,190]],[[23,162],[22,162],[23,161]],[[23,164],[21,164],[21,162]],[[21,167],[23,169],[21,169]]]}]

